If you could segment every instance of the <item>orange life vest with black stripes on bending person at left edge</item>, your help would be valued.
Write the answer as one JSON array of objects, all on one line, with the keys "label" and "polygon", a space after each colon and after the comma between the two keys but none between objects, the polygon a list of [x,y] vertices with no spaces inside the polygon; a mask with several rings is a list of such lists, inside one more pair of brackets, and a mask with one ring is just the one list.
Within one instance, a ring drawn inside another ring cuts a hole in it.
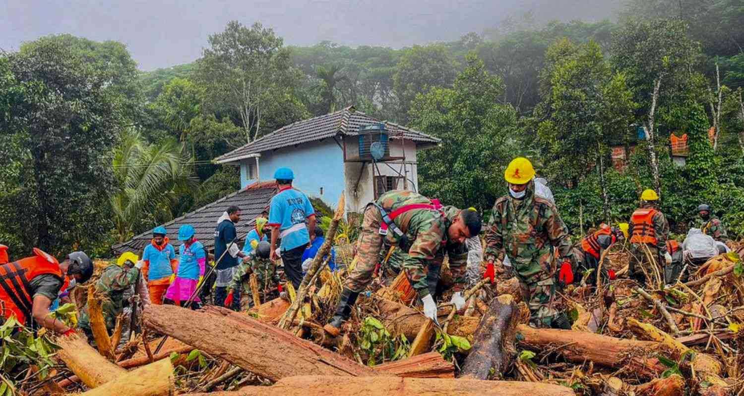
[{"label": "orange life vest with black stripes on bending person at left edge", "polygon": [[34,256],[0,265],[0,317],[16,319],[31,325],[33,296],[31,279],[39,275],[51,274],[65,281],[57,259],[33,248]]}]

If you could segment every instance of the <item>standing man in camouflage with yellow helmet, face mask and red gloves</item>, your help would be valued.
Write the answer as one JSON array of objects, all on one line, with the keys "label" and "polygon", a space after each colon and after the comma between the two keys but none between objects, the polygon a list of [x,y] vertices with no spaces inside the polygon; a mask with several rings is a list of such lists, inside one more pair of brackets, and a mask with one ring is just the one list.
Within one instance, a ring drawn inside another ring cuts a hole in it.
[{"label": "standing man in camouflage with yellow helmet, face mask and red gloves", "polygon": [[[504,171],[509,195],[493,204],[485,236],[484,277],[493,282],[494,263],[504,250],[530,308],[530,323],[536,327],[571,328],[565,313],[559,314],[554,308],[556,283],[574,282],[575,259],[568,229],[555,204],[535,194],[534,176],[532,163],[522,157],[512,160]],[[557,250],[555,255],[551,246]]]}]

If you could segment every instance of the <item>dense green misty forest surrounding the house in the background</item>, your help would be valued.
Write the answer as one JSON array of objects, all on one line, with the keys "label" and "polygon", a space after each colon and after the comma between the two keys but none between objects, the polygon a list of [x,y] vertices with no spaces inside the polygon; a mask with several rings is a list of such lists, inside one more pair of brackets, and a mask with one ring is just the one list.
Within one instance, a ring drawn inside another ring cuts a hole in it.
[{"label": "dense green misty forest surrounding the house in the background", "polygon": [[292,47],[229,22],[196,62],[150,72],[120,42],[44,36],[0,54],[0,243],[105,256],[234,192],[237,169],[211,159],[351,104],[443,140],[419,177],[446,204],[487,212],[523,155],[574,236],[649,187],[673,231],[705,202],[744,236],[743,23],[738,0],[629,0],[612,21],[525,16],[393,49]]}]

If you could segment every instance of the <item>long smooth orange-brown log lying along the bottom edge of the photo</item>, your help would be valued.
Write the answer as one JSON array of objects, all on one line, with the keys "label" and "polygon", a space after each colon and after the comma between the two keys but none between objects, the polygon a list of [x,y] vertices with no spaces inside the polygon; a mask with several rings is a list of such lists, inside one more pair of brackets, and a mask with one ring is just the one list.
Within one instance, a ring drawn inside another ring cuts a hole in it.
[{"label": "long smooth orange-brown log lying along the bottom edge of the photo", "polygon": [[400,377],[289,377],[274,386],[246,386],[237,392],[190,396],[574,396],[571,388],[519,381]]}]

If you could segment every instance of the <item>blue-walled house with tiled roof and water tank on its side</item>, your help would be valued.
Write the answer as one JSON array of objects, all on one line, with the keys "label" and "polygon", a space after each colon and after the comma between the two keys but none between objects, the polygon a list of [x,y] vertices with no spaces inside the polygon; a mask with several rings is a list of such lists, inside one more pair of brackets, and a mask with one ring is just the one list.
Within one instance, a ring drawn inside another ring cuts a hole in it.
[{"label": "blue-walled house with tiled roof and water tank on its side", "polygon": [[437,137],[349,106],[283,126],[214,161],[240,166],[241,189],[270,181],[288,166],[296,189],[334,209],[345,191],[347,212],[362,212],[385,191],[417,191],[417,152],[438,144]]}]

